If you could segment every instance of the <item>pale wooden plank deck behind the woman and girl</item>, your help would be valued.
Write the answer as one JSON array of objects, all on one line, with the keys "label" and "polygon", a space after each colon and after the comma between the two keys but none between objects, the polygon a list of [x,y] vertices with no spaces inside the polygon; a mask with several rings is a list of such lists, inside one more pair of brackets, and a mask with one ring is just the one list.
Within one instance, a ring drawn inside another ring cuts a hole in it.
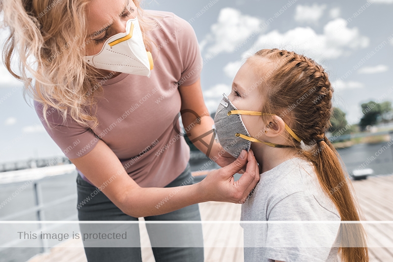
[{"label": "pale wooden plank deck behind the woman and girl", "polygon": [[[369,221],[393,221],[393,176],[371,177],[353,182],[359,203]],[[199,204],[202,220],[239,220],[240,205],[207,202]],[[227,247],[204,249],[205,262],[243,262],[242,229],[229,224],[203,224],[206,246],[220,243]],[[370,262],[393,262],[393,222],[391,224],[367,224]],[[144,224],[140,224],[143,262],[154,262],[153,253]],[[213,236],[213,237],[212,237]],[[81,241],[70,240],[52,248],[49,253],[37,255],[28,262],[86,262]],[[209,243],[209,242],[210,243]],[[70,247],[78,245],[79,247]],[[228,247],[229,246],[229,247]]]}]

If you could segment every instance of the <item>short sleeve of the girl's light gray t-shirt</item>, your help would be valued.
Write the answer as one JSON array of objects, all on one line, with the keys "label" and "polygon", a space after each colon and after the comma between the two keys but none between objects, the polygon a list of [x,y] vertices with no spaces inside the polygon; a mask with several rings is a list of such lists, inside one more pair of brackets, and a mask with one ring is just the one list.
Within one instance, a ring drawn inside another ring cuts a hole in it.
[{"label": "short sleeve of the girl's light gray t-shirt", "polygon": [[332,220],[338,222],[340,219],[322,207],[313,195],[296,192],[283,198],[268,214],[268,221],[295,223],[268,224],[266,257],[278,261],[326,261],[340,224],[323,221]]}]

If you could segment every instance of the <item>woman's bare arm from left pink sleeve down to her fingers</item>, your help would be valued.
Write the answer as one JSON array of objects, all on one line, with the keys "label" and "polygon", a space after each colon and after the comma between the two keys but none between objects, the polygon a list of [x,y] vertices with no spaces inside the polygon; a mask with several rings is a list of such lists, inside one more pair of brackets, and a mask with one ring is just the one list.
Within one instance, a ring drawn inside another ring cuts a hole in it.
[{"label": "woman's bare arm from left pink sleeve down to her fingers", "polygon": [[[70,159],[96,187],[124,213],[133,217],[158,215],[186,206],[222,201],[244,203],[259,181],[259,172],[252,151],[244,150],[244,158],[212,171],[202,182],[180,187],[140,187],[124,170],[108,145],[99,140],[83,157]],[[246,173],[236,182],[233,174],[247,164]],[[159,203],[164,205],[158,206]]]}]

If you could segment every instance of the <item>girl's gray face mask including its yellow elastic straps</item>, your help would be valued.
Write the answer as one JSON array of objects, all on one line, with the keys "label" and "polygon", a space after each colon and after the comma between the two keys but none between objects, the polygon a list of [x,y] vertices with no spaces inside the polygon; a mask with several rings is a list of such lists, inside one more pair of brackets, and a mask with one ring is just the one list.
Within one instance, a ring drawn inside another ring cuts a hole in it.
[{"label": "girl's gray face mask including its yellow elastic straps", "polygon": [[[278,148],[292,147],[289,145],[264,142],[251,137],[243,123],[241,114],[254,116],[274,115],[257,111],[238,110],[224,94],[224,98],[221,100],[220,105],[217,108],[216,116],[214,117],[214,124],[217,130],[218,142],[224,150],[233,157],[239,157],[243,149],[248,152],[251,147],[251,142],[263,143],[270,147]],[[285,130],[288,131],[288,133],[297,141],[302,141],[286,124]]]}]

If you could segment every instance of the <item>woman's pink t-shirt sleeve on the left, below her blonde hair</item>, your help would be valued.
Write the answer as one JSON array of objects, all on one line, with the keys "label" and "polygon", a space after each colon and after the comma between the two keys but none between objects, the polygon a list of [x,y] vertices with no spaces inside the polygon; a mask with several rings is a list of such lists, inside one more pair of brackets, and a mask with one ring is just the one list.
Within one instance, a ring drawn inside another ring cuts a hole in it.
[{"label": "woman's pink t-shirt sleeve on the left, below her blonde hair", "polygon": [[66,157],[70,159],[83,157],[96,146],[99,138],[93,131],[78,124],[72,117],[67,116],[66,122],[63,123],[59,112],[55,108],[49,107],[46,115],[52,128],[50,129],[44,119],[43,105],[34,101],[34,108],[45,130]]}]

